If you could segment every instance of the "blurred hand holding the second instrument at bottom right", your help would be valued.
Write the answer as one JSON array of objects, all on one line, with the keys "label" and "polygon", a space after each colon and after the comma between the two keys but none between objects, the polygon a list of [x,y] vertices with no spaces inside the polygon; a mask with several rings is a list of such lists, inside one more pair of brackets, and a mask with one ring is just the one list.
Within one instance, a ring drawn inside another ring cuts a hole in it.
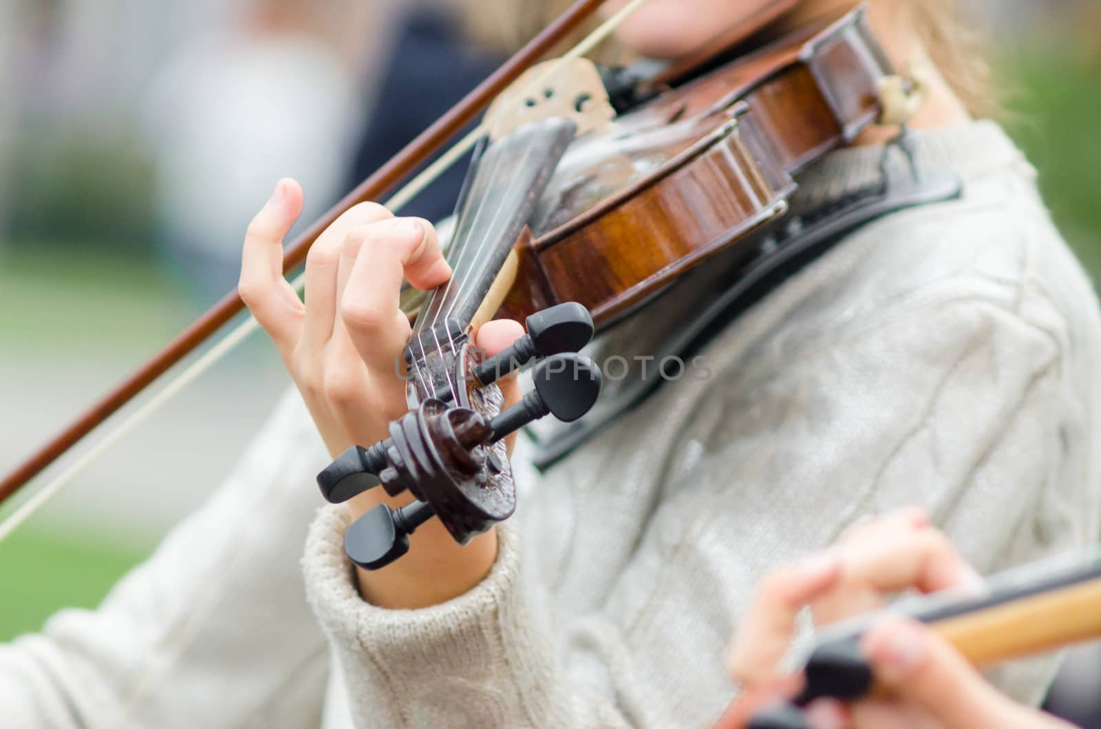
[{"label": "blurred hand holding the second instrument at bottom right", "polygon": [[[849,530],[829,550],[762,580],[729,657],[743,693],[717,725],[744,727],[771,701],[794,696],[802,677],[778,662],[795,634],[796,616],[809,607],[818,624],[880,607],[907,588],[930,592],[981,581],[933,529],[925,514],[906,509]],[[1068,725],[1017,705],[990,686],[944,639],[925,625],[887,617],[864,636],[863,651],[886,697],[846,706],[814,701],[807,711],[822,729],[1046,729]]]}]

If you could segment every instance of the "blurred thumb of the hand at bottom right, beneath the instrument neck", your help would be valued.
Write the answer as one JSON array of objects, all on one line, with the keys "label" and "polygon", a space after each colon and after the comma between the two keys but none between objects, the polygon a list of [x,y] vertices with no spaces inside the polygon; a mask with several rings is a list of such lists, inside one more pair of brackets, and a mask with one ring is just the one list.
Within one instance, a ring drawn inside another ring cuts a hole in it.
[{"label": "blurred thumb of the hand at bottom right, beneath the instrument neck", "polygon": [[864,654],[891,694],[922,706],[945,729],[1062,726],[1018,706],[928,627],[890,616],[864,635]]}]

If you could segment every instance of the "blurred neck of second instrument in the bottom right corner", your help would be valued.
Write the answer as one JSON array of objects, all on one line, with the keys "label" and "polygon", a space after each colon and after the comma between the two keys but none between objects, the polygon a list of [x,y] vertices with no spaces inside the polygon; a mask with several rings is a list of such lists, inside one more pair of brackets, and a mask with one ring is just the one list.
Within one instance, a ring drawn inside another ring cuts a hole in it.
[{"label": "blurred neck of second instrument in the bottom right corner", "polygon": [[[1054,651],[1101,638],[1101,552],[1039,561],[990,577],[979,591],[945,590],[889,610],[927,623],[978,668]],[[757,712],[750,729],[805,729],[810,701],[877,693],[860,640],[881,612],[827,627],[799,662],[799,695]]]}]

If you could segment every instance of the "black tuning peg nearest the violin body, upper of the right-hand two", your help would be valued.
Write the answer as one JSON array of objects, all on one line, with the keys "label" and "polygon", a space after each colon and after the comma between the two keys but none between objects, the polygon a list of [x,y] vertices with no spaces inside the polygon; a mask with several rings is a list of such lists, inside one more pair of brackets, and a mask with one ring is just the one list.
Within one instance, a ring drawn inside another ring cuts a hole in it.
[{"label": "black tuning peg nearest the violin body, upper of the right-hand two", "polygon": [[[527,334],[475,368],[473,376],[479,382],[495,382],[533,359],[576,352],[592,340],[592,316],[577,302],[536,312],[524,319],[524,326]],[[436,396],[448,400],[450,392],[440,392]]]}]

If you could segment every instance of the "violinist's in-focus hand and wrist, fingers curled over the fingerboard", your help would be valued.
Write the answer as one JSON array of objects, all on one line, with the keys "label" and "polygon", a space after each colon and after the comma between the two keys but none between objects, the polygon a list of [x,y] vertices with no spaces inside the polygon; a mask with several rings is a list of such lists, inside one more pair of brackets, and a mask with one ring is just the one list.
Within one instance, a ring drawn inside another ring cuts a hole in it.
[{"label": "violinist's in-focus hand and wrist, fingers curled over the fingerboard", "polygon": [[[411,327],[399,307],[402,280],[423,290],[445,283],[451,270],[436,231],[419,218],[395,218],[381,205],[349,209],[318,238],[306,258],[305,304],[283,278],[283,238],[302,211],[302,188],[275,186],[249,225],[238,291],[275,342],[329,454],[370,446],[389,435],[406,412],[402,350]],[[475,346],[493,355],[523,334],[515,322],[491,322]],[[506,401],[511,381],[502,383]],[[355,519],[389,499],[371,489],[348,502]],[[363,595],[391,607],[432,605],[459,595],[489,570],[492,533],[460,550],[437,520],[412,535],[410,554],[378,573],[360,572]],[[440,578],[440,575],[446,577]]]}]

